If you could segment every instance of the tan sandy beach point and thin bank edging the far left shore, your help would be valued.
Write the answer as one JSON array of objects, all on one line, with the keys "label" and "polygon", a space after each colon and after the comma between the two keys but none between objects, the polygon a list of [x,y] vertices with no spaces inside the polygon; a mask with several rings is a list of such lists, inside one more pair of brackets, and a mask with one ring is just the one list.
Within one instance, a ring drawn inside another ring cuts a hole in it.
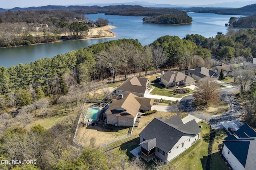
[{"label": "tan sandy beach point and thin bank edging the far left shore", "polygon": [[[90,34],[90,31],[102,30],[103,33],[105,33],[105,36],[102,36],[102,37],[96,37],[98,35],[96,33],[92,33],[92,35],[87,35],[86,38],[83,38],[83,39],[62,39],[62,40],[58,40],[58,41],[51,41],[48,43],[59,43],[62,41],[79,41],[79,40],[87,40],[87,39],[117,38],[117,36],[114,35],[113,32],[109,31],[110,29],[114,29],[114,28],[116,28],[116,27],[113,25],[107,25],[104,27],[96,27],[96,28],[89,29],[89,34]],[[108,36],[106,36],[106,35],[108,35]],[[48,44],[48,43],[34,43],[34,44],[30,44],[30,45],[39,45],[39,44]],[[13,47],[22,47],[22,46],[30,46],[30,45],[18,45],[18,46],[0,47],[0,48],[13,48]]]}]

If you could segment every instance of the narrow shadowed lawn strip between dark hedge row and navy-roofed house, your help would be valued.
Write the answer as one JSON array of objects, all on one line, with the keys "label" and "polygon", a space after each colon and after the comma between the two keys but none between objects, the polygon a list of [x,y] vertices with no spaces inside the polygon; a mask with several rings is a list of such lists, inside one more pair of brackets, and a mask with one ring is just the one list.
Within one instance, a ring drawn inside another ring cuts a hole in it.
[{"label": "narrow shadowed lawn strip between dark hedge row and navy-roofed house", "polygon": [[216,129],[216,135],[212,145],[211,170],[229,170],[228,166],[220,156],[220,147],[222,146],[222,141],[224,141],[225,137],[227,137],[227,135],[223,129]]}]

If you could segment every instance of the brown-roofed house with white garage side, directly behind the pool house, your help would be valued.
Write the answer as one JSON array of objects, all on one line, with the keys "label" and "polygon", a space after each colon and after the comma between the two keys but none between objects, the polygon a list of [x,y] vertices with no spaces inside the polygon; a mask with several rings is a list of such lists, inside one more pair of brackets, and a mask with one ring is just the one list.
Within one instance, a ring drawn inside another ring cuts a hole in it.
[{"label": "brown-roofed house with white garage side, directly behind the pool house", "polygon": [[149,92],[150,81],[148,78],[128,78],[123,84],[116,88],[116,94],[132,93],[144,97]]}]

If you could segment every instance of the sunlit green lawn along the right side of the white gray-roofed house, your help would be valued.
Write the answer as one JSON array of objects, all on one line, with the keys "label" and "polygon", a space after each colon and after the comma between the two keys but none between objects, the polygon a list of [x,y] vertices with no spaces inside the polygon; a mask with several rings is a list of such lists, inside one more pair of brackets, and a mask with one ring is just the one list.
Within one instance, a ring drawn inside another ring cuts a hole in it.
[{"label": "sunlit green lawn along the right side of the white gray-roofed house", "polygon": [[198,124],[202,125],[201,139],[171,161],[176,166],[175,170],[204,170],[206,168],[210,129],[206,123]]}]

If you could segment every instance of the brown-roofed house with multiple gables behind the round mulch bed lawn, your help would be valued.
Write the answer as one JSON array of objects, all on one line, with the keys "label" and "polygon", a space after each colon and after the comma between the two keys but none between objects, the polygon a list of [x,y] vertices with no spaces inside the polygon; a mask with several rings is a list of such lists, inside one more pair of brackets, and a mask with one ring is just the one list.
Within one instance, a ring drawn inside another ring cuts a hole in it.
[{"label": "brown-roofed house with multiple gables behind the round mulch bed lawn", "polygon": [[190,86],[196,84],[196,80],[191,78],[190,76],[187,76],[186,74],[183,74],[181,72],[172,72],[168,70],[167,72],[162,72],[161,82],[166,87],[172,87],[172,86]]}]

